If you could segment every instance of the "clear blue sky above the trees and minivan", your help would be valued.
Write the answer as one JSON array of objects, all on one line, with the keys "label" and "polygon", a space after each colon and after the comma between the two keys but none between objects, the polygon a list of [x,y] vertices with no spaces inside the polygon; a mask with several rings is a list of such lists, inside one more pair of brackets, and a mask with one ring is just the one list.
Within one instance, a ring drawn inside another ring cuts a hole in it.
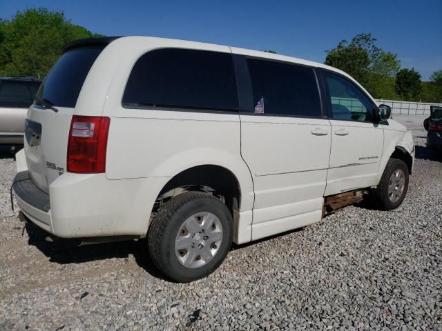
[{"label": "clear blue sky above the trees and minivan", "polygon": [[73,23],[108,36],[148,35],[220,43],[323,62],[341,39],[371,32],[403,68],[427,80],[442,68],[442,0],[114,1],[1,0],[17,10],[62,10]]}]

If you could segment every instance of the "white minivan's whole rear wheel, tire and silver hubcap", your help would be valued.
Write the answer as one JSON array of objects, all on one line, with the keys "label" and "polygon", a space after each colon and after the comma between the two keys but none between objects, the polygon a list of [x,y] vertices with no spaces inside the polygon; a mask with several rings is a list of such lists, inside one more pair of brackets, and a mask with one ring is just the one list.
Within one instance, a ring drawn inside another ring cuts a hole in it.
[{"label": "white minivan's whole rear wheel, tire and silver hubcap", "polygon": [[211,274],[231,248],[233,221],[220,200],[185,192],[168,201],[148,231],[155,266],[174,281],[186,283]]}]

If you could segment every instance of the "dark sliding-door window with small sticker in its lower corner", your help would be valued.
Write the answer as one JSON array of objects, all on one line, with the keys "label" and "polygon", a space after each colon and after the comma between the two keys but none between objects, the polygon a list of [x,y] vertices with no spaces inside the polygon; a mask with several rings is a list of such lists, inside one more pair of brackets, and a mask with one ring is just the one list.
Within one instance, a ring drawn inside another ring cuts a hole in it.
[{"label": "dark sliding-door window with small sticker in its lower corner", "polygon": [[247,59],[256,113],[321,117],[313,68]]}]

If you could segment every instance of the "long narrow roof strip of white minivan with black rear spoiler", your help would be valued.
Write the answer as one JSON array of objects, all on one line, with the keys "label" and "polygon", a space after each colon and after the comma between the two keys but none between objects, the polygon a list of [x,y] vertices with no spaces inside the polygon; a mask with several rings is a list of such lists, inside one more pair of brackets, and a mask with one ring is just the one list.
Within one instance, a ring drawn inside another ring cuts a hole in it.
[{"label": "long narrow roof strip of white minivan with black rear spoiler", "polygon": [[[87,46],[106,46],[109,43],[119,43],[119,42],[128,42],[131,41],[133,43],[146,43],[146,41],[149,41],[149,43],[160,43],[164,45],[165,43],[171,43],[173,47],[177,47],[177,45],[180,45],[182,43],[183,48],[193,48],[195,50],[198,50],[199,48],[230,48],[231,52],[233,54],[241,54],[241,55],[247,55],[250,57],[260,57],[265,59],[273,59],[276,61],[285,61],[285,62],[291,62],[291,63],[298,63],[305,66],[311,66],[311,67],[317,67],[317,68],[324,68],[327,70],[331,70],[334,72],[338,72],[340,74],[343,74],[345,77],[348,77],[349,79],[352,79],[352,81],[356,82],[358,86],[360,86],[368,95],[369,92],[361,86],[358,81],[356,81],[353,77],[351,77],[347,72],[343,72],[342,70],[339,70],[337,68],[327,66],[323,63],[304,60],[304,59],[298,59],[296,57],[289,57],[286,55],[281,54],[273,54],[269,52],[262,52],[259,50],[249,50],[245,48],[236,48],[233,46],[223,46],[223,45],[217,45],[213,43],[200,43],[198,41],[186,41],[186,40],[180,40],[180,39],[169,39],[169,38],[159,38],[159,37],[146,37],[146,36],[126,36],[126,37],[102,37],[102,38],[88,38],[88,39],[79,39],[75,41],[71,41],[69,43],[66,43],[66,45],[63,48],[63,52],[67,52],[68,50],[72,50],[73,48],[79,48],[79,47],[87,47]],[[115,45],[117,46],[117,45]],[[172,46],[171,46],[172,47]],[[371,97],[371,95],[370,95]]]}]

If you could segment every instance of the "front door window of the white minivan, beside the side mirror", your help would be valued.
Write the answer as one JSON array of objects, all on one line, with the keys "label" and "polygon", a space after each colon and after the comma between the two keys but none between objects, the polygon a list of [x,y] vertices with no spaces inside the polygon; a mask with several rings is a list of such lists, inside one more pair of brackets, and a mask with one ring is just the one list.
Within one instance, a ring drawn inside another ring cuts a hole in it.
[{"label": "front door window of the white minivan, beside the side mirror", "polygon": [[349,121],[372,121],[373,106],[353,83],[336,74],[324,72],[332,103],[332,118]]}]

